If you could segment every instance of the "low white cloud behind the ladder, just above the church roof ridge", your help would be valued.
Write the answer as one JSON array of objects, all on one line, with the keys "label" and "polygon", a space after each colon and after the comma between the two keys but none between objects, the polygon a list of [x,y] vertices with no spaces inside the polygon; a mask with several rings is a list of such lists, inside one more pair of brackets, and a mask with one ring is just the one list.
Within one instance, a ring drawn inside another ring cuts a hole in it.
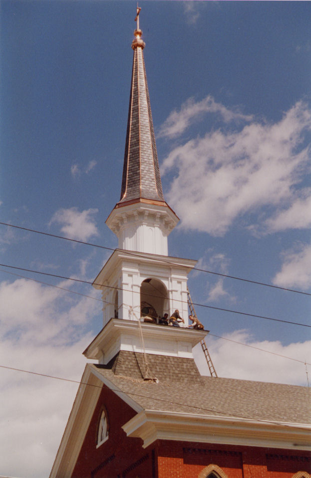
[{"label": "low white cloud behind the ladder, just above the church roof ridge", "polygon": [[[236,330],[224,335],[224,337],[271,351],[274,354],[208,335],[206,343],[218,376],[307,385],[304,363],[275,354],[311,363],[311,340],[283,345],[279,340],[254,340],[246,330]],[[200,344],[194,348],[194,356],[200,372],[209,375],[207,362]]]}]

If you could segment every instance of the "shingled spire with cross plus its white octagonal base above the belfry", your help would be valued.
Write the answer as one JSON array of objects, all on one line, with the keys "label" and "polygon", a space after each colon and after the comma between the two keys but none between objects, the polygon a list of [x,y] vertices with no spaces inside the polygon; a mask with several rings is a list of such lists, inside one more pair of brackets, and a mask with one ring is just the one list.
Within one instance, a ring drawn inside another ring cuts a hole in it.
[{"label": "shingled spire with cross plus its white octagonal base above the belfry", "polygon": [[167,255],[167,236],[178,222],[164,200],[147,85],[142,30],[132,41],[133,68],[120,200],[106,224],[119,248]]}]

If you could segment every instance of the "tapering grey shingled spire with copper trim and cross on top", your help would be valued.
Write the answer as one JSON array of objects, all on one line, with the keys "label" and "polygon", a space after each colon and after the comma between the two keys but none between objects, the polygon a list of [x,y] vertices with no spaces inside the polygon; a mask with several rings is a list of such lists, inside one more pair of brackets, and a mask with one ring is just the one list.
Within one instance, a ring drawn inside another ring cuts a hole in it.
[{"label": "tapering grey shingled spire with copper trim and cross on top", "polygon": [[164,202],[143,56],[145,43],[141,39],[142,30],[139,28],[139,11],[140,8],[137,8],[137,28],[132,42],[134,57],[131,94],[118,205],[141,199]]}]

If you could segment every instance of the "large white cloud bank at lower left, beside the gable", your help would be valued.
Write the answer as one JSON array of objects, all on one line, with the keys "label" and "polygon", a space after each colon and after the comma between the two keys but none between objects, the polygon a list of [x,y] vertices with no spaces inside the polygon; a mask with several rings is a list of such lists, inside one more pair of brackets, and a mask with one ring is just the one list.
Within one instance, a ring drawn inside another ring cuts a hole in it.
[{"label": "large white cloud bank at lower left, beside the gable", "polygon": [[[79,381],[100,302],[76,297],[26,279],[0,283],[0,364]],[[1,473],[48,476],[78,384],[2,367],[0,376]]]}]

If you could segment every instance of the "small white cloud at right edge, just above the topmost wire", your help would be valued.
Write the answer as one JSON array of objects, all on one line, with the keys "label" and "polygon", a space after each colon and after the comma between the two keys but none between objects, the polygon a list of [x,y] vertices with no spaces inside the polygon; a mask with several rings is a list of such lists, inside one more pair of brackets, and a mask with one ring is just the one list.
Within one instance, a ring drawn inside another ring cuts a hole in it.
[{"label": "small white cloud at right edge, just above the topmost wire", "polygon": [[297,244],[295,248],[283,252],[283,265],[273,279],[281,287],[311,287],[311,245]]}]

